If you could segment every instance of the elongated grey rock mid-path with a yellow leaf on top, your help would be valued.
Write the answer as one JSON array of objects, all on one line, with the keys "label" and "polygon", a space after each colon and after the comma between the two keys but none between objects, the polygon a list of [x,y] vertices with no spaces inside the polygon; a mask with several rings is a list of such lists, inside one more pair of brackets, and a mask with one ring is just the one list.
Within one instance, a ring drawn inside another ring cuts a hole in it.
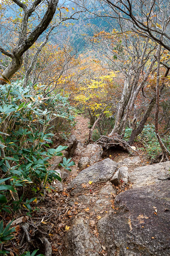
[{"label": "elongated grey rock mid-path with a yellow leaf on top", "polygon": [[110,180],[117,168],[118,164],[112,161],[110,158],[89,166],[85,170],[78,173],[78,176],[74,178],[68,185],[68,189],[74,188],[71,193],[82,191],[81,184],[93,181],[93,183],[106,182]]}]

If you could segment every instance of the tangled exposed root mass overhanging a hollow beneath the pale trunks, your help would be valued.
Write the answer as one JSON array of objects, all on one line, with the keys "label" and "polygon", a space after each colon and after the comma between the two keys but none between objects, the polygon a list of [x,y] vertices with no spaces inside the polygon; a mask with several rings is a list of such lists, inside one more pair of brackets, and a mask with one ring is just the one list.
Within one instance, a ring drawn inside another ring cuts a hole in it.
[{"label": "tangled exposed root mass overhanging a hollow beneath the pale trunks", "polygon": [[96,140],[95,144],[100,144],[102,148],[109,149],[111,147],[119,147],[122,150],[126,150],[128,152],[136,151],[133,147],[131,147],[127,141],[121,139],[121,135],[114,133],[112,137],[107,137],[102,135],[99,140]]}]

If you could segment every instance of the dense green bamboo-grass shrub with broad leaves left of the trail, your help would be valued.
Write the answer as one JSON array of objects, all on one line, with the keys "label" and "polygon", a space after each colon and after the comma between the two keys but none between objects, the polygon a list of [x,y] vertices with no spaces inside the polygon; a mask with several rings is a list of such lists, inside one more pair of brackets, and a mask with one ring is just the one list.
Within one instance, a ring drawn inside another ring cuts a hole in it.
[{"label": "dense green bamboo-grass shrub with broad leaves left of the trail", "polygon": [[50,148],[54,134],[49,130],[56,131],[57,126],[57,131],[63,132],[66,123],[74,125],[72,110],[68,99],[59,94],[43,97],[43,87],[24,88],[22,81],[0,85],[0,182],[5,182],[0,185],[1,211],[9,211],[7,203],[17,194],[21,197],[13,202],[14,209],[24,203],[30,213],[30,203],[36,197],[26,198],[26,191],[30,191],[30,197],[41,194],[47,182],[61,180],[50,170],[49,160],[62,156],[67,147]]}]

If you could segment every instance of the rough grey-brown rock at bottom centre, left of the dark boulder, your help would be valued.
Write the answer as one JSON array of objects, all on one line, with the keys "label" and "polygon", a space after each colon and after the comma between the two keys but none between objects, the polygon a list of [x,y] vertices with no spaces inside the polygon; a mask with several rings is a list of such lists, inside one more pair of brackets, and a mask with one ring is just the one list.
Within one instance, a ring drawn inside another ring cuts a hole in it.
[{"label": "rough grey-brown rock at bottom centre, left of the dark boulder", "polygon": [[83,219],[78,218],[65,235],[63,256],[98,256],[101,247],[95,242]]}]

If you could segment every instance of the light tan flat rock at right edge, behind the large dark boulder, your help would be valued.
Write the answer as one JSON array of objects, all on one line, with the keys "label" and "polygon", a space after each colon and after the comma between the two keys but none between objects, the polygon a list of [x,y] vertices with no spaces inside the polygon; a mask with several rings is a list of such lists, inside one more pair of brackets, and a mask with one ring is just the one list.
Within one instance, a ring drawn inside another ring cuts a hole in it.
[{"label": "light tan flat rock at right edge, behind the large dark boulder", "polygon": [[158,184],[164,181],[158,178],[166,178],[169,174],[170,162],[141,166],[129,172],[129,182],[133,183],[133,188],[151,184]]}]

